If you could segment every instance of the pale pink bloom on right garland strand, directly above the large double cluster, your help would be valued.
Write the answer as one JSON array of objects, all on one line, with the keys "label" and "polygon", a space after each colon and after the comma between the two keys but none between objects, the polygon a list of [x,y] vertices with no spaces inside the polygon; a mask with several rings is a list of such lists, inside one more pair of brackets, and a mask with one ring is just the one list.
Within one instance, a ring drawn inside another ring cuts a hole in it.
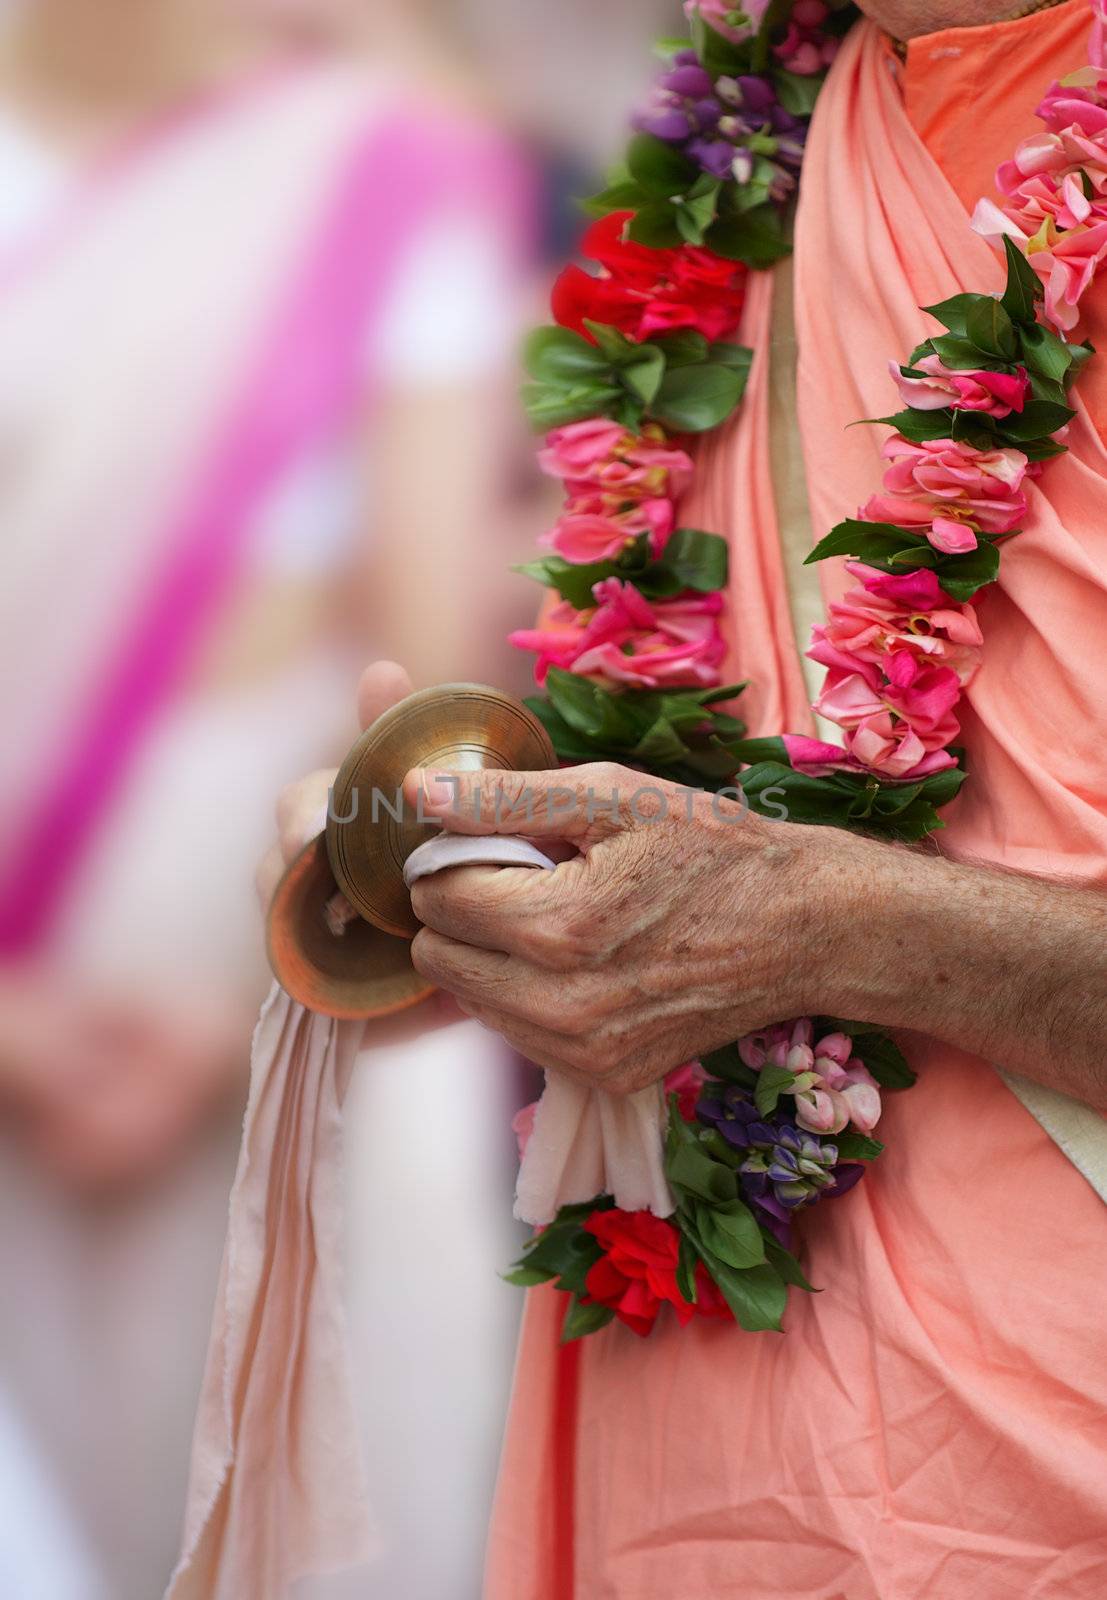
[{"label": "pale pink bloom on right garland strand, directly above the large double cluster", "polygon": [[869,522],[925,530],[937,549],[973,549],[974,530],[1011,533],[1025,515],[1021,483],[1027,458],[1021,450],[976,450],[955,438],[915,445],[893,434],[881,454],[891,461],[886,493],[862,506]]}]

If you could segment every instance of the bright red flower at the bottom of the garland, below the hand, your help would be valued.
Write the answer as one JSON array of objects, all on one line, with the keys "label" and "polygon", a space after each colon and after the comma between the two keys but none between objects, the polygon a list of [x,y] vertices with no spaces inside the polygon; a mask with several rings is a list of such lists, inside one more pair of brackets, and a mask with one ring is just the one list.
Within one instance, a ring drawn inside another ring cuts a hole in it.
[{"label": "bright red flower at the bottom of the garland, below the hand", "polygon": [[608,1306],[619,1322],[643,1339],[651,1331],[665,1301],[680,1325],[696,1312],[702,1317],[729,1317],[731,1310],[702,1262],[696,1267],[696,1306],[677,1286],[680,1235],[672,1222],[649,1211],[593,1211],[584,1224],[605,1254],[584,1280],[585,1306]]}]

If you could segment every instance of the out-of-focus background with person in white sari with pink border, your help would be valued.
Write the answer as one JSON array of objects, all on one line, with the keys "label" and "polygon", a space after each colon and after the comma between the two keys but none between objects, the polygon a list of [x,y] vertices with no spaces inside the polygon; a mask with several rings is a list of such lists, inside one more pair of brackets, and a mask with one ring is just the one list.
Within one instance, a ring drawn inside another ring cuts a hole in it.
[{"label": "out-of-focus background with person in white sari with pink border", "polygon": [[[525,690],[507,568],[547,499],[517,342],[678,26],[677,0],[0,3],[5,1600],[162,1594],[274,797],[341,758],[378,654]],[[478,1594],[530,1098],[470,1024],[362,1061],[386,1549],[320,1595]]]}]

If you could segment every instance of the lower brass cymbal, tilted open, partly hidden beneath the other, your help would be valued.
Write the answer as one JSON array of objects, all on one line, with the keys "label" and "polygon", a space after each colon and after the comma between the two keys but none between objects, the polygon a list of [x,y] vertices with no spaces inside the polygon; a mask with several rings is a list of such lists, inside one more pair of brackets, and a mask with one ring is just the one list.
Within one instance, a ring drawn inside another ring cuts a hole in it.
[{"label": "lower brass cymbal, tilted open, partly hidden beneath the other", "polygon": [[411,946],[355,917],[333,933],[326,906],[338,894],[323,835],[301,850],[277,885],[266,925],[277,982],[309,1011],[373,1018],[434,994],[411,965]]}]

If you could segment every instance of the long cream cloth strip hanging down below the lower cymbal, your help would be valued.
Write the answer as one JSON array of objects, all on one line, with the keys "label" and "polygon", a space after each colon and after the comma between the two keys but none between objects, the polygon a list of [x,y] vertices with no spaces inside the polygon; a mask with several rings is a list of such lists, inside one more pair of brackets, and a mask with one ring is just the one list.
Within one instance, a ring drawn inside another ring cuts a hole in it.
[{"label": "long cream cloth strip hanging down below the lower cymbal", "polygon": [[341,1101],[362,1035],[277,986],[262,1008],[166,1600],[285,1600],[373,1554],[342,1294]]}]

